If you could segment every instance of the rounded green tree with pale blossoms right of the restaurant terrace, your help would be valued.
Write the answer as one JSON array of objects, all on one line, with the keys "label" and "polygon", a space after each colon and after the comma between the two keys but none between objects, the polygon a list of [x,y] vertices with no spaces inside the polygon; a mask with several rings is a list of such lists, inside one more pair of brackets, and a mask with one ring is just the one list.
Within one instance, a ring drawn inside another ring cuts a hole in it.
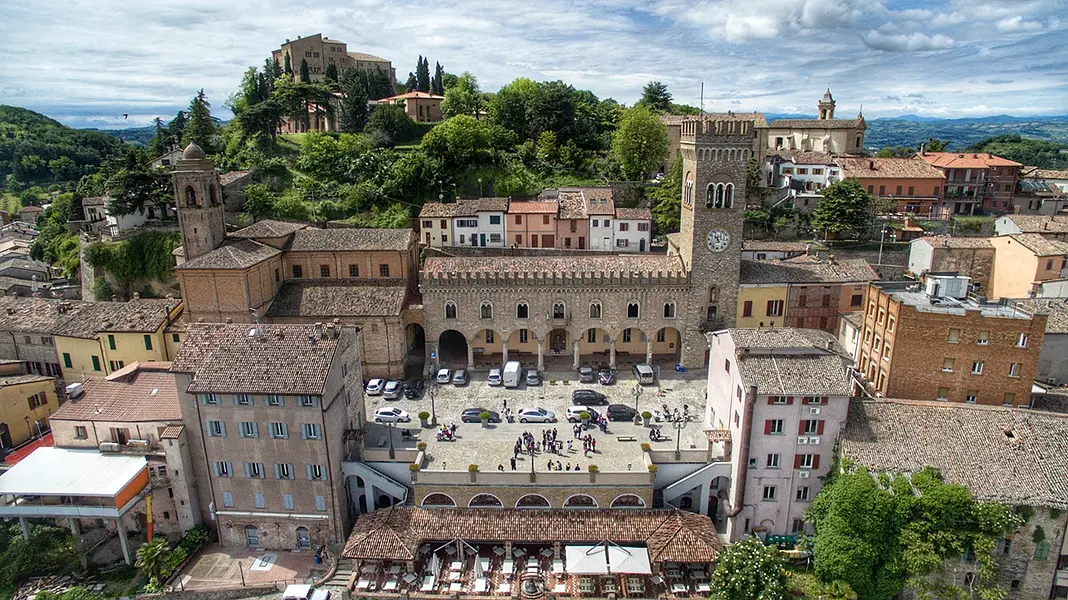
[{"label": "rounded green tree with pale blossoms right of the restaurant terrace", "polygon": [[784,600],[789,593],[779,550],[750,536],[726,547],[716,557],[709,578],[711,600]]}]

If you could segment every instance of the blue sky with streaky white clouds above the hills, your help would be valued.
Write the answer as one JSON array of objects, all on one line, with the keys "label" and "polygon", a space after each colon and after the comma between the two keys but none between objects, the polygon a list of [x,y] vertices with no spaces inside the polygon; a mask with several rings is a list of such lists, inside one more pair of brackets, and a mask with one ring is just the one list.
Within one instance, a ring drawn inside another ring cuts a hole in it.
[{"label": "blue sky with streaky white clouds above the hills", "polygon": [[[1068,113],[1068,0],[4,0],[0,104],[76,127],[214,113],[285,38],[323,33],[483,91],[564,80],[632,104],[650,80],[708,111]],[[124,119],[123,114],[128,117]]]}]

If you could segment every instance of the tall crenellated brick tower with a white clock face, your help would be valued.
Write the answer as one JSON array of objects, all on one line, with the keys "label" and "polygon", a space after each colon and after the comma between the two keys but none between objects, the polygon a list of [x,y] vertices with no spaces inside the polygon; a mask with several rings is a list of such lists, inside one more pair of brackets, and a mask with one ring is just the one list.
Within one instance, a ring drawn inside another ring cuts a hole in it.
[{"label": "tall crenellated brick tower with a white clock face", "polygon": [[757,145],[753,115],[710,114],[681,125],[682,215],[677,251],[691,278],[687,329],[698,334],[734,327],[745,172]]}]

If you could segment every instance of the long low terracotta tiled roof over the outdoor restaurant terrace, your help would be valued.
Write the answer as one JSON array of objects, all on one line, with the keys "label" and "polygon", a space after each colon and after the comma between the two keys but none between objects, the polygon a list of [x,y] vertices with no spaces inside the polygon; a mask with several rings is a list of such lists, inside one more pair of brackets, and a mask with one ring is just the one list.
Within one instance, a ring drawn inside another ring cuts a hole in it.
[{"label": "long low terracotta tiled roof over the outdoor restaurant terrace", "polygon": [[361,515],[346,558],[411,560],[426,541],[644,543],[653,563],[711,563],[722,543],[711,520],[684,510],[414,508]]}]

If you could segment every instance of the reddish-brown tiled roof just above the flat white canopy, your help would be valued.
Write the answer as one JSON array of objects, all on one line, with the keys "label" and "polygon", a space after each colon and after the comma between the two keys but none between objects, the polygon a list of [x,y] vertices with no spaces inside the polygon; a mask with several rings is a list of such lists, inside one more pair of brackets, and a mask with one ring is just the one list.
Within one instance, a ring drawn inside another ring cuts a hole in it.
[{"label": "reddish-brown tiled roof just above the flat white canopy", "polygon": [[90,377],[82,395],[68,399],[52,421],[145,423],[182,421],[171,363],[134,363],[107,378]]}]

